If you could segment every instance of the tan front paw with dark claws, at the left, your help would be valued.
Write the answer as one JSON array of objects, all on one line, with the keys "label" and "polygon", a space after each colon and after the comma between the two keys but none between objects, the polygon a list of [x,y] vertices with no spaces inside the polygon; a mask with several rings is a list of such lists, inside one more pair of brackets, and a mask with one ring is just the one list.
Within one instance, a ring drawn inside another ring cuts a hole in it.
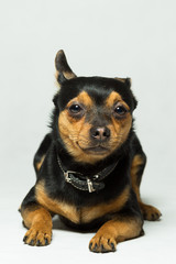
[{"label": "tan front paw with dark claws, at the left", "polygon": [[52,230],[45,227],[32,227],[24,235],[24,243],[29,245],[48,245],[52,240]]}]

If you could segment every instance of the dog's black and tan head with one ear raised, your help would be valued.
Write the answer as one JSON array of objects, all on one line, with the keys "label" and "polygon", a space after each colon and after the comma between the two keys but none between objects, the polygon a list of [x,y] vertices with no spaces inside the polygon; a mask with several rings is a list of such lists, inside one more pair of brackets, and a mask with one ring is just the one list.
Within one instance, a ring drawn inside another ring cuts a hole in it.
[{"label": "dog's black and tan head with one ear raised", "polygon": [[54,97],[58,132],[76,162],[95,164],[127,141],[136,100],[129,78],[77,77],[59,51],[55,58],[61,86]]}]

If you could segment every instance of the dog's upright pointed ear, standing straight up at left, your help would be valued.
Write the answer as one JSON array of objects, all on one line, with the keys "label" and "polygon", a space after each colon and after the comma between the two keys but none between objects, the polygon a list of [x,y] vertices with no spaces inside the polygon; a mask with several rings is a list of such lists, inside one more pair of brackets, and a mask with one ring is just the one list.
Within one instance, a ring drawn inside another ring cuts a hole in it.
[{"label": "dog's upright pointed ear, standing straight up at left", "polygon": [[65,80],[77,77],[70,69],[63,50],[58,51],[56,54],[55,67],[56,67],[55,76],[58,81],[58,85],[62,85]]}]

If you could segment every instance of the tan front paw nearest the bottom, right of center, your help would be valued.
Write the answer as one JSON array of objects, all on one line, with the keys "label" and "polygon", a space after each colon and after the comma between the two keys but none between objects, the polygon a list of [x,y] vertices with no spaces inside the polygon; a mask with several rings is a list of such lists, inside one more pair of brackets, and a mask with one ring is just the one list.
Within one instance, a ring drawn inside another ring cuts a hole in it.
[{"label": "tan front paw nearest the bottom, right of center", "polygon": [[107,234],[96,234],[89,243],[89,250],[96,253],[114,252],[117,242],[113,238]]}]

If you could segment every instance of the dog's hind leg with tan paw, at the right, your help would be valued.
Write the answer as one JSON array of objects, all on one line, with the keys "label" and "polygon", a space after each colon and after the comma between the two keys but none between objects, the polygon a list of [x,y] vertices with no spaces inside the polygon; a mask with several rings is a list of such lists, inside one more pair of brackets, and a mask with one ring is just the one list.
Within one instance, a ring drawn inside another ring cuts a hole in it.
[{"label": "dog's hind leg with tan paw, at the right", "polygon": [[141,144],[138,139],[135,139],[135,155],[131,165],[131,182],[132,188],[136,195],[141,211],[143,213],[143,218],[148,221],[155,221],[160,219],[162,213],[160,210],[153,206],[145,205],[140,195],[140,185],[142,175],[146,164],[146,156],[141,147]]}]

